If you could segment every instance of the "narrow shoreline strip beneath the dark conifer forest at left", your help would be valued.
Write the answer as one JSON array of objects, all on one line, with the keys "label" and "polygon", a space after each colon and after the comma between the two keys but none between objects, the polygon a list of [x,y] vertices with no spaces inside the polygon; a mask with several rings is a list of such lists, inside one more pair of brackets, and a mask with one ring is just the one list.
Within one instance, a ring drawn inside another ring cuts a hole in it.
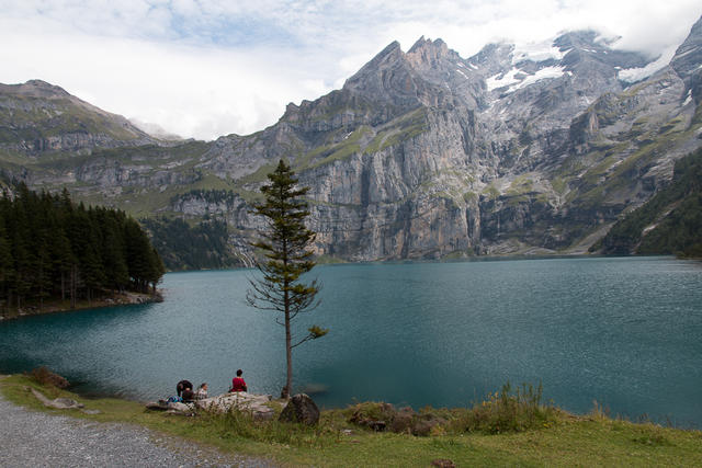
[{"label": "narrow shoreline strip beneath the dark conifer forest at left", "polygon": [[102,296],[91,301],[81,300],[76,304],[75,308],[70,307],[70,300],[48,300],[39,309],[38,305],[32,304],[30,306],[22,307],[20,309],[13,309],[10,312],[0,312],[0,322],[7,320],[22,319],[26,317],[45,316],[49,313],[58,312],[72,312],[77,310],[87,309],[104,309],[111,307],[122,306],[137,306],[143,304],[155,304],[163,301],[163,292],[158,289],[156,294],[152,293],[115,293]]}]

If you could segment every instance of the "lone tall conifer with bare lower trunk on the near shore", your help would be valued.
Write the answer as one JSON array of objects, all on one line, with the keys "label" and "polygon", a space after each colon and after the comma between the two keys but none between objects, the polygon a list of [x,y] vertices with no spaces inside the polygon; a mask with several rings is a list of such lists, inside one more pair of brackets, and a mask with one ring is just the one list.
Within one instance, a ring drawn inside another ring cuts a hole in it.
[{"label": "lone tall conifer with bare lower trunk on the near shore", "polygon": [[249,279],[251,288],[247,290],[247,301],[258,309],[284,316],[282,322],[279,318],[275,321],[285,327],[287,379],[283,396],[287,397],[293,389],[293,347],[324,336],[329,330],[313,326],[304,338],[293,344],[291,320],[319,305],[315,301],[320,289],[317,279],[309,284],[299,282],[299,276],[315,266],[307,247],[316,233],[305,227],[304,220],[309,212],[307,203],[299,198],[309,187],[296,187],[295,173],[282,159],[268,179],[270,183],[261,187],[265,201],[253,207],[254,214],[267,218],[268,229],[261,232],[258,242],[251,244],[261,249],[267,260],[257,262],[263,277]]}]

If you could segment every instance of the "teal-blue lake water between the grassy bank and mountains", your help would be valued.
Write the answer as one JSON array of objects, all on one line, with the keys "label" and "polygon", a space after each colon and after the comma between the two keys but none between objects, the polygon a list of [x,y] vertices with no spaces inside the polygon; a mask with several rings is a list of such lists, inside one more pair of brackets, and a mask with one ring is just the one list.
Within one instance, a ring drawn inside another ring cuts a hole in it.
[{"label": "teal-blue lake water between the grassy bank and mountains", "polygon": [[[329,328],[293,351],[296,390],[324,407],[465,406],[541,381],[587,412],[702,427],[702,263],[667,258],[318,266]],[[161,304],[0,322],[0,372],[46,365],[88,393],[139,400],[176,383],[280,393],[284,329],[245,303],[253,271],[171,273]]]}]

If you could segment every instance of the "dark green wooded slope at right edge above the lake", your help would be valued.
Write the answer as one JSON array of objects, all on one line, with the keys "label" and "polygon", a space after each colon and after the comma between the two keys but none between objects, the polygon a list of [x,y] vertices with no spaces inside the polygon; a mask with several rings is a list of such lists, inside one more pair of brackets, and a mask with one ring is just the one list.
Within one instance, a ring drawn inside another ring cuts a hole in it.
[{"label": "dark green wooded slope at right edge above the lake", "polygon": [[679,160],[672,183],[618,221],[591,250],[600,248],[608,254],[702,256],[702,149]]}]

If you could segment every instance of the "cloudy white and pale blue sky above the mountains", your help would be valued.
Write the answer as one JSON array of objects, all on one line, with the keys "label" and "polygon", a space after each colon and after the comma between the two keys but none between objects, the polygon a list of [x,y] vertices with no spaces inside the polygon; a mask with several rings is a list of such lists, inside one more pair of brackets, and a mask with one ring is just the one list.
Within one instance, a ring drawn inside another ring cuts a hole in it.
[{"label": "cloudy white and pale blue sky above the mountains", "polygon": [[197,139],[274,124],[387,44],[539,43],[593,28],[671,57],[699,0],[0,0],[0,82],[42,79],[152,129]]}]

